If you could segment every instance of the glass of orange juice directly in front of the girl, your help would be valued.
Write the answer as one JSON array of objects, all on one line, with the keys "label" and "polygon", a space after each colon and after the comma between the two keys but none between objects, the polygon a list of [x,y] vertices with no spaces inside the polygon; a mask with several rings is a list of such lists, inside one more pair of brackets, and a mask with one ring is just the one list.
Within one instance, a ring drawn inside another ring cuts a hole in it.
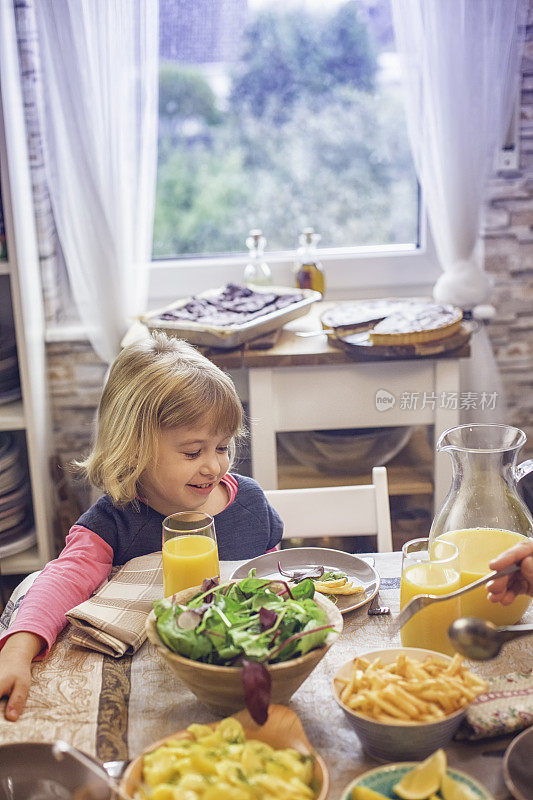
[{"label": "glass of orange juice directly in front of the girl", "polygon": [[179,511],[163,520],[163,589],[165,597],[218,578],[217,537],[213,517],[202,511]]}]

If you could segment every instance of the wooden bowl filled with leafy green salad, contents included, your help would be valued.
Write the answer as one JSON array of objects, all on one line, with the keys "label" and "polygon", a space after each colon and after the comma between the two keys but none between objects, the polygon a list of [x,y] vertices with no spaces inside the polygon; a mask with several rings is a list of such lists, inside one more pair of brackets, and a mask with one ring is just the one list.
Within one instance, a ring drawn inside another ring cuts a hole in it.
[{"label": "wooden bowl filled with leafy green salad, contents included", "polygon": [[289,702],[343,626],[338,608],[315,593],[312,581],[287,588],[244,578],[211,592],[185,589],[154,603],[148,639],[211,711],[226,715],[246,706],[262,724],[269,703]]}]

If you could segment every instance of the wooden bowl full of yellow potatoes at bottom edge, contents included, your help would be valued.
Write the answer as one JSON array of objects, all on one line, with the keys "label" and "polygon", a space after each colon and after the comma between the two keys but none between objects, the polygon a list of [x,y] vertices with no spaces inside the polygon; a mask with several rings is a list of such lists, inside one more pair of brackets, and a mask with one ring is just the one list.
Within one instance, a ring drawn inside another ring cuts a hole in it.
[{"label": "wooden bowl full of yellow potatoes at bottom edge, contents included", "polygon": [[290,708],[271,705],[264,725],[243,710],[166,736],[130,762],[120,786],[127,797],[139,800],[169,788],[178,794],[193,787],[198,797],[204,791],[228,797],[234,789],[239,797],[254,800],[283,800],[297,792],[326,800],[329,775],[299,717]]}]

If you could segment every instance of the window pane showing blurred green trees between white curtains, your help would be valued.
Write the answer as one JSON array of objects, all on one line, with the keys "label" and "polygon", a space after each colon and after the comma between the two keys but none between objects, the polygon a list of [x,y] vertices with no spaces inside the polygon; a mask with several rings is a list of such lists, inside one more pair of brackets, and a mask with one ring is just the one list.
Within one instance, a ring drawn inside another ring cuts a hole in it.
[{"label": "window pane showing blurred green trees between white curtains", "polygon": [[413,252],[401,91],[390,0],[160,0],[154,258]]}]

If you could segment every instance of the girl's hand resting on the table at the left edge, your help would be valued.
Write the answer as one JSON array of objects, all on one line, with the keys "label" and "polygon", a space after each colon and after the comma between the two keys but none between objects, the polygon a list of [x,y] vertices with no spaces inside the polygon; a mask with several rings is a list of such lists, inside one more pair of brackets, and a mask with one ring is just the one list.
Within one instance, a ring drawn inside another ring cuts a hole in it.
[{"label": "girl's hand resting on the table at the left edge", "polygon": [[0,650],[0,697],[7,696],[6,719],[15,722],[22,713],[31,684],[31,662],[44,640],[21,631],[9,637]]}]

